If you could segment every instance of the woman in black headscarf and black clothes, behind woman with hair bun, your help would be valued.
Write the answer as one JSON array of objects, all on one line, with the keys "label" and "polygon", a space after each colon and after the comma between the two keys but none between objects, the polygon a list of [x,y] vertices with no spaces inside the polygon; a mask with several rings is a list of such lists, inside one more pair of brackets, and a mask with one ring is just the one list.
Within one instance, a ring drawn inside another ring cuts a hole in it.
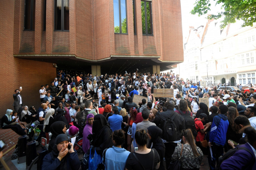
[{"label": "woman in black headscarf and black clothes, behind woman with hair bun", "polygon": [[147,136],[149,137],[149,145],[147,148],[155,148],[160,157],[160,167],[159,170],[165,170],[163,166],[163,157],[165,157],[165,144],[163,144],[162,139],[160,138],[162,134],[162,129],[157,126],[150,126],[147,128]]}]

